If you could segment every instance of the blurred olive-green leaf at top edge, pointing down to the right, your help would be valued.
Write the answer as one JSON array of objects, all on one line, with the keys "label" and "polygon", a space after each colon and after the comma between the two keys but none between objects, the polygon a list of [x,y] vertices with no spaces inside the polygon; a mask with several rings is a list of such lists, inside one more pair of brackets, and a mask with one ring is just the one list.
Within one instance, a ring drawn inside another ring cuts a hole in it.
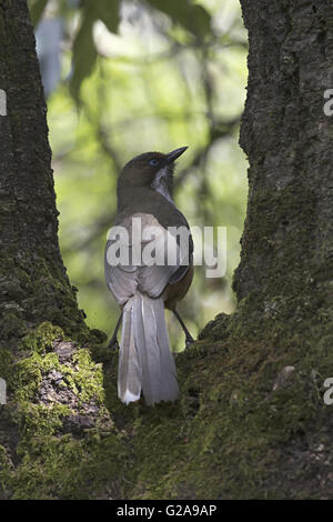
[{"label": "blurred olive-green leaf at top edge, pointing down to the right", "polygon": [[204,38],[211,32],[211,16],[202,6],[193,4],[190,0],[148,0],[148,2],[199,38]]}]

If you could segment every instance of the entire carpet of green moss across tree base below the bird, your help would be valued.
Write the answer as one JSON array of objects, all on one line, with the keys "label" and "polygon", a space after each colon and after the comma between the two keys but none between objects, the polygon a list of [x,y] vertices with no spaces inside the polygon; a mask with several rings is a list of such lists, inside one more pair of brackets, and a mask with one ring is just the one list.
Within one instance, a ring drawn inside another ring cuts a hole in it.
[{"label": "entire carpet of green moss across tree base below the bird", "polygon": [[[63,362],[54,347],[68,340],[51,324],[40,325],[23,340],[27,357],[11,362],[20,444],[14,466],[2,450],[6,495],[320,498],[315,479],[297,492],[295,476],[304,464],[285,449],[299,455],[307,445],[311,454],[312,425],[315,440],[325,440],[330,411],[322,396],[324,379],[333,375],[332,328],[316,320],[287,324],[287,307],[295,302],[273,301],[274,313],[256,311],[249,295],[234,315],[212,321],[200,341],[176,355],[180,400],[154,408],[118,400],[117,353],[107,353],[103,371],[97,349],[98,363],[82,348]],[[10,364],[8,353],[3,360]],[[287,365],[294,371],[283,381]],[[60,395],[40,401],[52,371],[62,375],[58,389],[65,387],[72,403],[61,403]],[[93,425],[77,433],[77,420],[92,418],[91,404]]]}]

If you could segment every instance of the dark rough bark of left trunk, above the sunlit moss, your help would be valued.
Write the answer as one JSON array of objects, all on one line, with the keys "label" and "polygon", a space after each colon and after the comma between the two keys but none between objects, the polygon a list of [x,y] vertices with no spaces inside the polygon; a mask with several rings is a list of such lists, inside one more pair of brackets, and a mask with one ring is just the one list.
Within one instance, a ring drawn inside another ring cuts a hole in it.
[{"label": "dark rough bark of left trunk, above the sunlit moss", "polygon": [[0,79],[8,116],[0,117],[2,341],[26,325],[82,327],[58,245],[56,194],[46,102],[24,1],[0,3]]}]

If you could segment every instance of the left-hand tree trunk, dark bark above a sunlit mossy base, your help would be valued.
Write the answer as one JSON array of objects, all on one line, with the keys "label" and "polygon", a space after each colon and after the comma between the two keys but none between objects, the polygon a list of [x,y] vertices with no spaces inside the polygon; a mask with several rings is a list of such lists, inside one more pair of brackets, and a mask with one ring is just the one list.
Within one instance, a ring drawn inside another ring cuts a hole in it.
[{"label": "left-hand tree trunk, dark bark above a sunlit mossy base", "polygon": [[[73,342],[98,339],[84,324],[59,251],[46,102],[26,0],[0,2],[0,498],[29,498],[39,495],[33,469],[41,462],[51,469],[58,454],[59,483],[65,483],[70,464],[62,451],[73,452],[75,438],[97,424],[109,433],[110,418],[101,368]],[[68,432],[72,444],[63,449]],[[88,451],[78,446],[73,459],[82,460]]]}]

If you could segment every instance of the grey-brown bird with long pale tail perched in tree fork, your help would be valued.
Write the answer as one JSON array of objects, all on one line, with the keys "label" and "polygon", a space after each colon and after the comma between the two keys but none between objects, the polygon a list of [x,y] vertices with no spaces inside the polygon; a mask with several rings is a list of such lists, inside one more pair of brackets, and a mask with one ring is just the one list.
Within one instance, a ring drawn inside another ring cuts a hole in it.
[{"label": "grey-brown bird with long pale tail perched in tree fork", "polygon": [[[167,154],[144,152],[129,161],[118,178],[117,217],[110,231],[121,230],[125,234],[112,235],[109,231],[104,274],[107,285],[121,308],[108,347],[119,348],[117,335],[122,322],[118,396],[125,404],[138,401],[141,393],[148,405],[179,398],[165,308],[180,322],[186,347],[194,342],[176,310],[194,273],[190,227],[172,195],[175,160],[186,149],[181,147]],[[140,234],[135,220],[140,222]],[[149,235],[151,230],[154,234]],[[179,230],[183,237],[178,235]],[[121,249],[124,259],[115,255]],[[134,259],[134,250],[137,257],[139,252],[139,259]],[[168,258],[170,253],[173,254],[172,262]],[[162,262],[158,262],[159,255]]]}]

